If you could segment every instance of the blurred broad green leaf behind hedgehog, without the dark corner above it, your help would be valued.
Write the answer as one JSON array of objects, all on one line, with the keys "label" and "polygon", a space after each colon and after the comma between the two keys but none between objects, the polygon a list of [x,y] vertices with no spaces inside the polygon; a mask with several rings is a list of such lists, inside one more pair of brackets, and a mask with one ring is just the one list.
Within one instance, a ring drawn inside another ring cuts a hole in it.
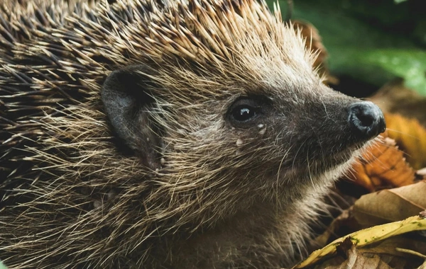
[{"label": "blurred broad green leaf behind hedgehog, without the dark corner above it", "polygon": [[[293,18],[309,21],[320,31],[332,74],[376,88],[398,76],[426,96],[425,50],[406,35],[373,27],[359,16],[359,6],[354,12],[345,3],[348,1],[300,0],[294,4]],[[395,8],[393,1],[389,5]],[[280,1],[280,6],[285,11],[286,1]]]}]

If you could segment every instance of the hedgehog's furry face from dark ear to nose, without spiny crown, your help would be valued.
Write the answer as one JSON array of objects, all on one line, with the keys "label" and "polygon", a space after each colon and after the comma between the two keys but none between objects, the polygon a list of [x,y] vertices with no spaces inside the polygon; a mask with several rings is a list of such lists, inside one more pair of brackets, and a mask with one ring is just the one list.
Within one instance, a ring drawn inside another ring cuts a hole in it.
[{"label": "hedgehog's furry face from dark ear to nose, without spiny crown", "polygon": [[200,71],[173,73],[179,72],[187,77],[164,84],[171,77],[165,71],[126,67],[114,71],[102,90],[116,135],[176,190],[214,193],[220,187],[218,193],[229,188],[226,193],[235,194],[288,191],[294,181],[324,185],[334,179],[324,175],[342,169],[384,127],[378,108],[332,91],[320,79],[296,87],[234,77],[219,85]]}]

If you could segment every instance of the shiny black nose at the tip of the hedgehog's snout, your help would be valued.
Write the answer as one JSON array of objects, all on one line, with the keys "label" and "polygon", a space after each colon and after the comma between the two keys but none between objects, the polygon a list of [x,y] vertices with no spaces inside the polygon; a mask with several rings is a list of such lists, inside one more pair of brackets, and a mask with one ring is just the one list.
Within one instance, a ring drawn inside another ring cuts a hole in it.
[{"label": "shiny black nose at the tip of the hedgehog's snout", "polygon": [[380,108],[368,101],[350,105],[348,121],[360,139],[376,137],[386,130],[385,118]]}]

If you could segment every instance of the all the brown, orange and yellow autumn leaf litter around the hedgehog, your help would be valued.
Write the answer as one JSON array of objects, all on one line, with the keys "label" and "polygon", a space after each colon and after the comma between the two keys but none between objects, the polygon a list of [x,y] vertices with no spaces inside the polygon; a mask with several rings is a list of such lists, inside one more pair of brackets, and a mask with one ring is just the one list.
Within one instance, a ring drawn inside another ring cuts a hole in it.
[{"label": "all the brown, orange and yellow autumn leaf litter around the hedgehog", "polygon": [[[324,83],[339,84],[339,76],[328,69],[329,54],[315,25],[294,24],[305,36],[307,48],[318,53],[314,67],[329,77]],[[368,98],[383,110],[386,132],[339,180],[349,188],[337,183],[335,191],[352,197],[354,204],[317,236],[312,245],[319,249],[295,269],[426,269],[426,98],[395,74]]]}]

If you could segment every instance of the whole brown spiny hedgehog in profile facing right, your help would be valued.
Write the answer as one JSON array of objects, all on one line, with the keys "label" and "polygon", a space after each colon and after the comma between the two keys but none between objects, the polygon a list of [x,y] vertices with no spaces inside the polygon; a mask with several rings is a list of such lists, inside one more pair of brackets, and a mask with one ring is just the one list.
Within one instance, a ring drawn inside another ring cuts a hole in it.
[{"label": "whole brown spiny hedgehog in profile facing right", "polygon": [[0,8],[9,268],[280,268],[385,128],[256,0]]}]

